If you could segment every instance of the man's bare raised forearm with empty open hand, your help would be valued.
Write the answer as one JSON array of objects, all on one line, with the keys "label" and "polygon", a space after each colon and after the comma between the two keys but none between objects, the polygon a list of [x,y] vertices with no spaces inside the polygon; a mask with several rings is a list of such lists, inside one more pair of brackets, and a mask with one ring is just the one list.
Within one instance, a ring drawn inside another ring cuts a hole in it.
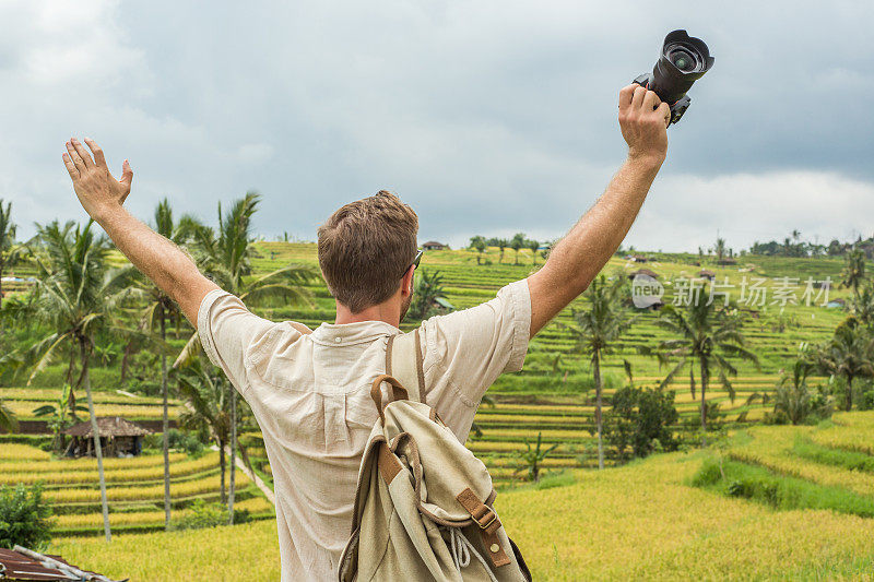
[{"label": "man's bare raised forearm with empty open hand", "polygon": [[209,292],[218,288],[217,285],[204,277],[179,247],[125,210],[122,204],[133,180],[128,161],[122,166],[121,179],[116,180],[106,167],[103,151],[92,140],[85,139],[85,143],[93,158],[75,139],[67,142],[63,154],[63,165],[82,207],[137,269],[179,304],[185,317],[197,328],[200,302]]}]

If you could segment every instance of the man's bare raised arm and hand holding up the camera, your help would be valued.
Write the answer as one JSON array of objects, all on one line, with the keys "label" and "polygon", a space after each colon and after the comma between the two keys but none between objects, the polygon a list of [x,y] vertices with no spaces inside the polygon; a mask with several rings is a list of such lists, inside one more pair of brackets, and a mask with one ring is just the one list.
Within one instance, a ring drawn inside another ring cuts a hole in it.
[{"label": "man's bare raised arm and hand holding up the camera", "polygon": [[528,277],[531,336],[586,290],[634,224],[668,155],[668,104],[639,85],[619,92],[619,128],[628,158],[606,191]]}]

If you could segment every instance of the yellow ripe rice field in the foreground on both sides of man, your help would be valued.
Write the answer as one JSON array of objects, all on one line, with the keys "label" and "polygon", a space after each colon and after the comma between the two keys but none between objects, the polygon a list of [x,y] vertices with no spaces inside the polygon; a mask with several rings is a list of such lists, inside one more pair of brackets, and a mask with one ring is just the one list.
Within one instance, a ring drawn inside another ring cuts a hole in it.
[{"label": "yellow ripe rice field in the foreground on both sides of man", "polygon": [[[838,414],[831,426],[747,432],[735,442],[739,450],[791,460],[799,456],[792,452],[796,438],[829,435],[851,442],[848,436],[858,433],[874,442],[874,413]],[[863,507],[784,510],[690,486],[713,454],[658,454],[606,471],[574,471],[560,484],[501,492],[496,507],[534,580],[871,579],[874,519],[847,511]],[[864,456],[874,464],[874,455]],[[816,464],[823,475],[841,468],[834,462]],[[874,479],[872,472],[866,476]],[[837,490],[854,488],[841,477],[828,483]],[[874,496],[859,497],[874,504]],[[111,545],[99,538],[59,539],[52,550],[115,578],[196,580],[209,571],[216,580],[279,580],[276,531],[268,522],[119,536]]]}]

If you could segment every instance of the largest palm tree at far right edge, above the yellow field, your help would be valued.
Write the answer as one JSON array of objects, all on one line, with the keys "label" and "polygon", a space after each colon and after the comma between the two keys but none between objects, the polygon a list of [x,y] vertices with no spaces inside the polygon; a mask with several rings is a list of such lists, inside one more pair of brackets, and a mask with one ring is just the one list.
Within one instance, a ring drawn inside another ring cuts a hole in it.
[{"label": "largest palm tree at far right edge, above the yellow field", "polygon": [[874,336],[859,321],[849,317],[835,328],[835,335],[817,353],[817,364],[825,373],[847,380],[845,409],[853,406],[853,380],[874,376]]}]

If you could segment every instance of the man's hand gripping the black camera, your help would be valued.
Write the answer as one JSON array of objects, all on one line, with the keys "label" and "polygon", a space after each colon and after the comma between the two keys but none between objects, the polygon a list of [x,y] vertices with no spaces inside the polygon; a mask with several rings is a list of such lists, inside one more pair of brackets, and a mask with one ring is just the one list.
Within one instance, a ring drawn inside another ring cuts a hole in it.
[{"label": "man's hand gripping the black camera", "polygon": [[629,157],[663,162],[670,122],[671,108],[654,91],[631,84],[619,92],[619,128]]}]

